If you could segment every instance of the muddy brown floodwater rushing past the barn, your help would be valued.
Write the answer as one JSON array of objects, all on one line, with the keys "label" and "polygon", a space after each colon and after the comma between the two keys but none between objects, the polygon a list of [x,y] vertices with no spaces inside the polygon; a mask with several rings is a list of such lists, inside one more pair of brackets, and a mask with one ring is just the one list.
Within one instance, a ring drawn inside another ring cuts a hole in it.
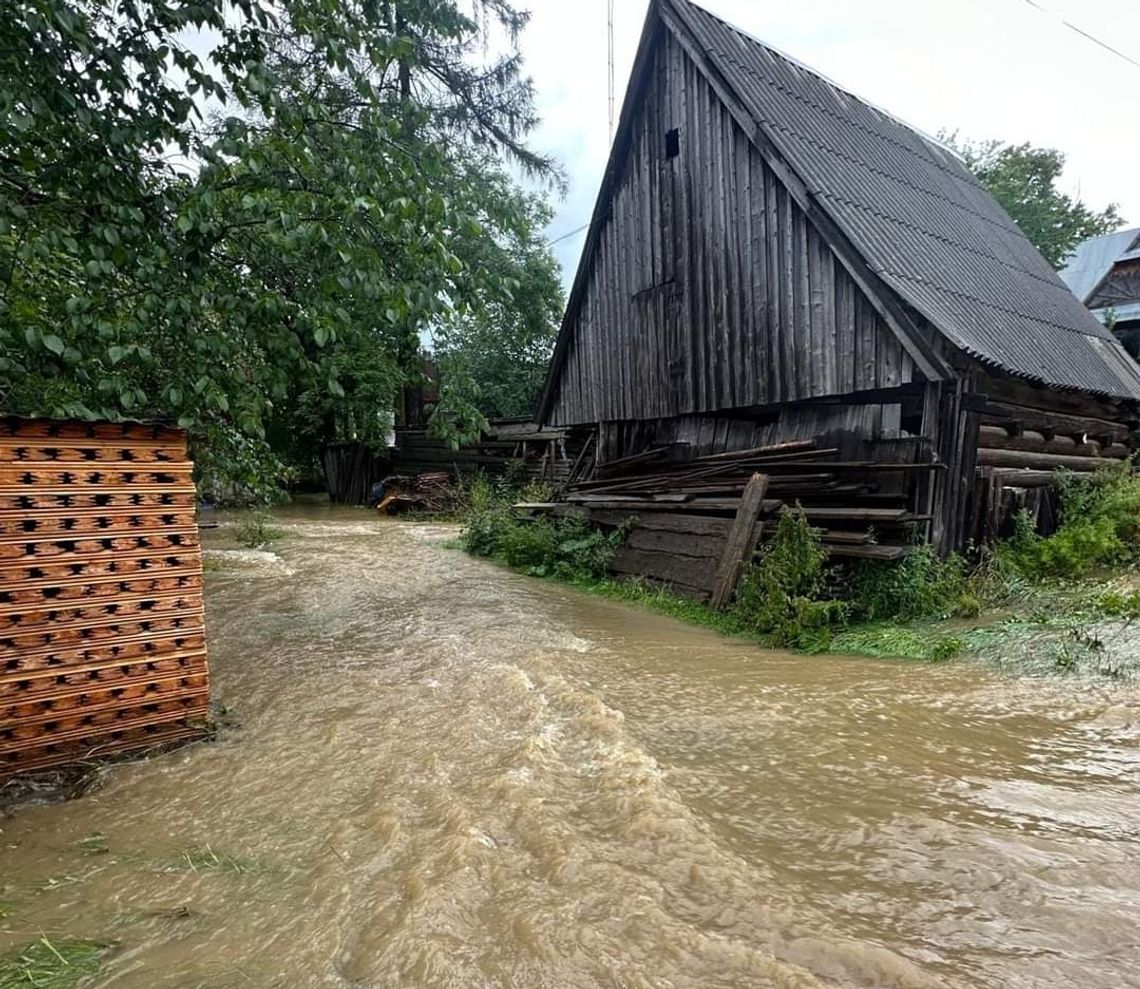
[{"label": "muddy brown floodwater rushing past the barn", "polygon": [[286,528],[209,577],[220,739],[0,822],[0,948],[113,941],[115,989],[1140,987],[1137,687]]}]

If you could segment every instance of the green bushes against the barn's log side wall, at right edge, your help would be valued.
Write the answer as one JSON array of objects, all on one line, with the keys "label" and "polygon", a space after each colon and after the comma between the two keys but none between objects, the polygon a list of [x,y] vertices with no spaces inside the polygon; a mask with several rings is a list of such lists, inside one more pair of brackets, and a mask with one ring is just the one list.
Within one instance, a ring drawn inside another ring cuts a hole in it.
[{"label": "green bushes against the barn's log side wall, at right edge", "polygon": [[1011,539],[997,547],[1000,566],[1041,578],[1074,578],[1133,563],[1140,536],[1140,480],[1125,461],[1090,475],[1058,474],[1060,525],[1040,537],[1021,514]]}]

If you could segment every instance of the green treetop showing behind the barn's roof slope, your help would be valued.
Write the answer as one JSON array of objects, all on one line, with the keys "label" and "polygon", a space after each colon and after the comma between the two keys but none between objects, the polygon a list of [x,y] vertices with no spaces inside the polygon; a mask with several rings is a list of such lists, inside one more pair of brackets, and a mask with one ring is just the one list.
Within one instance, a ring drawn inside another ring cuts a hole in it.
[{"label": "green treetop showing behind the barn's roof slope", "polygon": [[1053,268],[1062,268],[1082,240],[1121,226],[1115,204],[1097,211],[1057,188],[1065,155],[1056,148],[968,141],[959,139],[956,132],[943,132],[939,138],[964,158]]}]

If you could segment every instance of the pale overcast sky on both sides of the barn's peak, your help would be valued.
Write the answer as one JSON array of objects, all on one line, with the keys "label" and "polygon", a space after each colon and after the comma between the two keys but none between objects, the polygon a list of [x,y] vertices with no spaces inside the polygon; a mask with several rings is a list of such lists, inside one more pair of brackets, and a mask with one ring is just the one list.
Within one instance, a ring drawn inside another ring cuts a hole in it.
[{"label": "pale overcast sky on both sides of the barn's peak", "polygon": [[[1140,224],[1140,68],[1027,0],[700,0],[844,89],[928,133],[1031,141],[1068,156],[1066,185]],[[1140,0],[1040,0],[1140,62]],[[609,153],[605,0],[530,0],[523,38],[543,125],[570,182],[549,227],[589,220]],[[616,0],[618,111],[649,0]],[[585,234],[557,244],[567,283]]]}]

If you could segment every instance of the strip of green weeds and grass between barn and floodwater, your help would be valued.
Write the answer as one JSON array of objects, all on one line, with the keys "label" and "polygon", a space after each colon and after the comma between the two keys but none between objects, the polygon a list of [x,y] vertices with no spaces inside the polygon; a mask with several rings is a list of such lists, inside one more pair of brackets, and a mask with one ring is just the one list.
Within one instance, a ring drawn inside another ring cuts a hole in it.
[{"label": "strip of green weeds and grass between barn and floodwater", "polygon": [[[951,659],[1001,643],[1027,641],[1047,629],[1066,636],[1048,648],[1054,672],[1122,676],[1129,663],[1096,662],[1091,643],[1076,637],[1107,619],[1140,618],[1140,594],[1062,581],[1097,567],[1131,565],[1140,549],[1140,482],[1129,465],[1092,476],[1061,475],[1061,524],[1040,537],[1023,518],[1013,539],[975,563],[917,546],[899,562],[829,565],[819,534],[800,512],[781,516],[774,538],[747,569],[736,602],[716,613],[695,602],[608,575],[624,531],[602,531],[575,518],[522,518],[508,489],[486,479],[472,484],[461,545],[536,577],[553,577],[609,598],[635,602],[728,635],[804,652],[842,652],[925,661]],[[518,497],[518,494],[515,496]],[[545,500],[535,497],[528,500]],[[983,612],[1017,608],[1013,620],[988,623]],[[1026,614],[1026,611],[1028,614]],[[1039,616],[1040,615],[1040,616]],[[1062,623],[1052,619],[1060,616]],[[947,628],[946,620],[975,620]],[[1036,659],[1029,664],[1039,671]],[[1137,663],[1132,663],[1137,665]]]}]

